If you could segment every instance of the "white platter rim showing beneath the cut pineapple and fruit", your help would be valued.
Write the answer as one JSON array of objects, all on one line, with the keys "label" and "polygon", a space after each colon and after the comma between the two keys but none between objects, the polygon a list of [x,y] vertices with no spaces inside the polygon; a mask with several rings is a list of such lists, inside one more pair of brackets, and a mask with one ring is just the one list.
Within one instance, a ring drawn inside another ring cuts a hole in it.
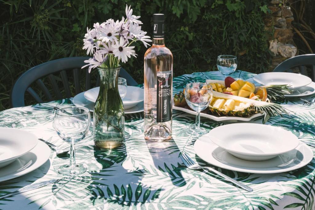
[{"label": "white platter rim showing beneath the cut pineapple and fruit", "polygon": [[[184,112],[186,112],[188,114],[192,114],[192,115],[197,115],[197,112],[195,112],[195,111],[192,111],[192,110],[184,108],[184,107],[175,106],[174,101],[173,101],[173,109],[184,111]],[[251,115],[249,117],[233,117],[233,116],[231,117],[231,116],[214,116],[214,115],[209,115],[209,114],[200,112],[200,116],[209,118],[209,119],[214,120],[214,121],[250,121],[251,119],[254,119],[256,117],[263,116],[263,114],[257,113],[257,114]]]}]

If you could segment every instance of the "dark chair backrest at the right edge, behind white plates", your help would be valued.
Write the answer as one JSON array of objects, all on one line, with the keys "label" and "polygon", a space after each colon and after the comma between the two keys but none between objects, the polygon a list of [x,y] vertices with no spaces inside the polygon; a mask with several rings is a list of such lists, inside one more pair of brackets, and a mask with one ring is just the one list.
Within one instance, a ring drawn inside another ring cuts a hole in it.
[{"label": "dark chair backrest at the right edge, behind white plates", "polygon": [[312,70],[312,80],[315,81],[315,54],[298,55],[289,58],[279,64],[273,71],[274,72],[293,72],[292,68],[298,67],[300,73],[307,75],[306,66],[310,66]]}]

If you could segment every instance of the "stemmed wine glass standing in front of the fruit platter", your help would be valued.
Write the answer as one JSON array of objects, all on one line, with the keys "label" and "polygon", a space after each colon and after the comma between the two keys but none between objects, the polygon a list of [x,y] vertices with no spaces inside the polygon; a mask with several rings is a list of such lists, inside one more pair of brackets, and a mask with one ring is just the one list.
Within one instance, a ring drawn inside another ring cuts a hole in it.
[{"label": "stemmed wine glass standing in front of the fruit platter", "polygon": [[187,105],[197,112],[196,124],[191,127],[191,130],[202,135],[208,133],[204,128],[200,128],[200,112],[206,109],[212,99],[212,87],[207,83],[189,83],[185,88],[185,99]]}]

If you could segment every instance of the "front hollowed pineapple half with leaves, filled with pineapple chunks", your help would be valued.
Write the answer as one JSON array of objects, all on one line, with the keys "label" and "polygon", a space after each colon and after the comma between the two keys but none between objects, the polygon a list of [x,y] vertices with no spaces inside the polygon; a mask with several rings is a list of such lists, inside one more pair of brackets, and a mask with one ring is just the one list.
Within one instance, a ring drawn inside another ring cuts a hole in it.
[{"label": "front hollowed pineapple half with leaves, filled with pineapple chunks", "polygon": [[240,117],[251,116],[255,113],[264,113],[263,123],[266,123],[270,116],[281,116],[281,114],[284,113],[289,114],[286,109],[279,104],[252,100],[216,91],[213,91],[209,110],[218,115]]}]

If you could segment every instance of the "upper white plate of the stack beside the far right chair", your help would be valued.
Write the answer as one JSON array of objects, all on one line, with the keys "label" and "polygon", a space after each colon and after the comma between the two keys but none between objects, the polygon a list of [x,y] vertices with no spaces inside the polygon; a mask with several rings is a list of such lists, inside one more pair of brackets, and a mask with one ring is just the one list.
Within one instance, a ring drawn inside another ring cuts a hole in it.
[{"label": "upper white plate of the stack beside the far right chair", "polygon": [[262,85],[291,85],[291,90],[297,90],[312,82],[309,77],[289,72],[267,72],[257,74],[253,79]]}]

